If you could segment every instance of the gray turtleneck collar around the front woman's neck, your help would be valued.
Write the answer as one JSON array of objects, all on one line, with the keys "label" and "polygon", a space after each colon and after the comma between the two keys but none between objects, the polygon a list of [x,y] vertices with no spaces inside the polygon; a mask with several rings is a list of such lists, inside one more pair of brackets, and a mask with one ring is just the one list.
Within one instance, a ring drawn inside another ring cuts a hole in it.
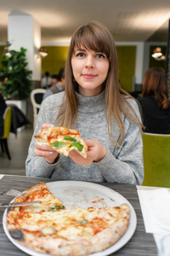
[{"label": "gray turtleneck collar around the front woman's neck", "polygon": [[79,100],[79,113],[93,113],[105,109],[105,90],[96,96],[85,97],[76,92]]}]

